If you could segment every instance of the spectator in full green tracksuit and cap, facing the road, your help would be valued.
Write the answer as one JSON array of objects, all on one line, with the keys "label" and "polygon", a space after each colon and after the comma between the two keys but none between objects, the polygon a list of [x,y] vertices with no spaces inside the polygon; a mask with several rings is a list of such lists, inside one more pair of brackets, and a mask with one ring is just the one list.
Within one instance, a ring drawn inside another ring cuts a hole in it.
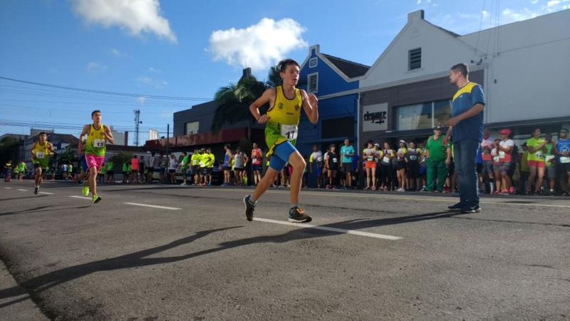
[{"label": "spectator in full green tracksuit and cap, facing the road", "polygon": [[[447,177],[447,166],[451,163],[451,152],[447,146],[447,138],[441,135],[441,126],[433,128],[433,135],[425,143],[425,158],[427,170],[427,185],[424,192],[435,191],[442,193],[443,184]],[[435,178],[437,177],[437,185]]]}]

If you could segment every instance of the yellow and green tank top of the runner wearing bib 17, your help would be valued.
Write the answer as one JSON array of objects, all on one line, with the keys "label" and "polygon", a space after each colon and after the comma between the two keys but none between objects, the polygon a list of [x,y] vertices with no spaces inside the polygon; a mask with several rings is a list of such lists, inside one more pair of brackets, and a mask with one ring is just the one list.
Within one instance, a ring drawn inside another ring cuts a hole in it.
[{"label": "yellow and green tank top of the runner wearing bib 17", "polygon": [[295,97],[289,99],[285,96],[282,86],[275,88],[275,103],[267,112],[269,121],[265,126],[265,142],[269,148],[267,156],[271,156],[273,148],[280,143],[290,141],[295,145],[299,133],[301,106],[303,106],[301,90],[296,88]]}]

